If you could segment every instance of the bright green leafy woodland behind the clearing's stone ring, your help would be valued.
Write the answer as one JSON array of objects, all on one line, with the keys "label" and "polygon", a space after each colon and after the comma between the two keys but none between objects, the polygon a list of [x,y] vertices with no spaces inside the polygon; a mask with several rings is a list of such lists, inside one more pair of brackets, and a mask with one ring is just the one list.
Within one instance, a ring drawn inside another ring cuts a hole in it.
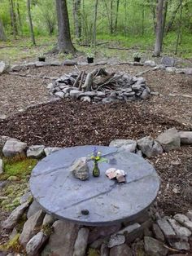
[{"label": "bright green leafy woodland behind the clearing's stone ring", "polygon": [[[0,1],[0,20],[4,38],[7,38],[6,46],[16,44],[30,47],[33,45],[30,41],[27,3],[27,0]],[[98,4],[97,42],[114,42],[122,47],[133,47],[138,51],[153,50],[156,0],[68,0],[67,3],[72,42],[78,50],[81,50],[81,46],[91,45],[94,40],[96,4]],[[36,44],[46,44],[44,50],[51,49],[55,45],[58,30],[55,1],[31,0],[30,11]],[[164,15],[166,15],[164,53],[171,55],[177,51],[177,55],[190,59],[192,57],[192,1],[164,0]],[[31,50],[31,54],[33,51],[38,51],[33,47]],[[6,50],[2,51],[0,57],[6,55],[6,52]],[[13,56],[14,54],[13,51]],[[107,55],[107,52],[104,54]]]}]

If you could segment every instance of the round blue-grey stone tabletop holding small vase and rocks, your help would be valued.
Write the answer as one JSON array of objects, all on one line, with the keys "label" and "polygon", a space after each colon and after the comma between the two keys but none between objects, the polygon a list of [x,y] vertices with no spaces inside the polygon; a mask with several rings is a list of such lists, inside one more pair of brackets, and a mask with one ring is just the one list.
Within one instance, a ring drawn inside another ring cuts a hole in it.
[{"label": "round blue-grey stone tabletop holding small vase and rocks", "polygon": [[[137,154],[98,146],[107,158],[107,162],[98,164],[100,176],[92,176],[93,161],[89,160],[89,179],[74,178],[72,163],[88,157],[93,148],[64,148],[39,161],[30,179],[34,198],[47,213],[86,226],[107,226],[139,217],[155,201],[159,190],[154,167]],[[105,172],[111,167],[126,172],[125,183],[107,178]],[[82,210],[89,214],[82,214]]]}]

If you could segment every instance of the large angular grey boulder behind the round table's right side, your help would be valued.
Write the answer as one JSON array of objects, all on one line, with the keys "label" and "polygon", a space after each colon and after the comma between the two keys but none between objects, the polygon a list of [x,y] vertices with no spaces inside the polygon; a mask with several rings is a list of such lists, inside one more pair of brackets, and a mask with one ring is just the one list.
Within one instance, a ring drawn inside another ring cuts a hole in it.
[{"label": "large angular grey boulder behind the round table's right side", "polygon": [[156,140],[161,144],[165,152],[180,148],[181,146],[181,138],[176,128],[164,131]]}]

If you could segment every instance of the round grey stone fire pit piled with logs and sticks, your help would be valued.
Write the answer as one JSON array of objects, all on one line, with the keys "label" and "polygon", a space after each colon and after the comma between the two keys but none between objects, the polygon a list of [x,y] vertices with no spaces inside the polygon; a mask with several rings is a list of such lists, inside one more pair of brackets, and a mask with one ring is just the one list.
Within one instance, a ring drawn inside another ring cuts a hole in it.
[{"label": "round grey stone fire pit piled with logs and sticks", "polygon": [[50,83],[50,95],[102,103],[148,99],[151,90],[144,77],[127,73],[108,73],[103,68],[92,72],[68,73]]}]

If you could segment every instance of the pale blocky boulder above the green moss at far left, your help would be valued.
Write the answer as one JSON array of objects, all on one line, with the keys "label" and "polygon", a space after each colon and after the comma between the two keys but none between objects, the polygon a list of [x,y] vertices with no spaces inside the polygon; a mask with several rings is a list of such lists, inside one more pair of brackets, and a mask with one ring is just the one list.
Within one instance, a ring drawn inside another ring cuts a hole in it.
[{"label": "pale blocky boulder above the green moss at far left", "polygon": [[16,155],[26,156],[27,143],[21,142],[19,139],[7,139],[2,153],[4,157],[15,157]]}]

